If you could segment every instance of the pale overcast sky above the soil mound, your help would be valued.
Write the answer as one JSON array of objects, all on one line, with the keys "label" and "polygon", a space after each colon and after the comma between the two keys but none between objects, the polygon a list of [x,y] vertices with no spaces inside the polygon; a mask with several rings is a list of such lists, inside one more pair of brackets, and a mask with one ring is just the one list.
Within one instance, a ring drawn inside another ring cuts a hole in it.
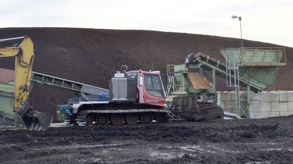
[{"label": "pale overcast sky above the soil mound", "polygon": [[231,18],[236,15],[242,17],[243,39],[293,47],[292,0],[0,0],[0,5],[0,28],[137,29],[241,38],[240,21]]}]

